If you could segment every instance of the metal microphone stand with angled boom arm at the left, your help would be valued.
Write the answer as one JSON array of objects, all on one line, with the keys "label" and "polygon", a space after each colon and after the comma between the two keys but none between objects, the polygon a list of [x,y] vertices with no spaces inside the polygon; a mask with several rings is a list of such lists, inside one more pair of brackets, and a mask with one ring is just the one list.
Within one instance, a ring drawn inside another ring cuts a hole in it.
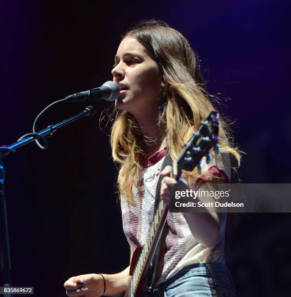
[{"label": "metal microphone stand with angled boom arm at the left", "polygon": [[[4,273],[4,287],[12,287],[11,283],[11,260],[10,260],[10,247],[9,247],[9,236],[8,236],[8,220],[6,211],[6,201],[4,196],[4,181],[6,177],[6,170],[1,157],[6,157],[11,152],[16,152],[17,148],[23,147],[35,139],[43,138],[45,135],[52,136],[59,128],[64,127],[67,124],[75,122],[76,120],[84,116],[92,116],[97,113],[96,106],[89,105],[81,113],[73,115],[57,124],[49,125],[47,128],[40,132],[30,133],[31,136],[27,136],[19,141],[14,142],[9,146],[0,147],[0,268]],[[13,297],[12,294],[5,293],[4,297]]]}]

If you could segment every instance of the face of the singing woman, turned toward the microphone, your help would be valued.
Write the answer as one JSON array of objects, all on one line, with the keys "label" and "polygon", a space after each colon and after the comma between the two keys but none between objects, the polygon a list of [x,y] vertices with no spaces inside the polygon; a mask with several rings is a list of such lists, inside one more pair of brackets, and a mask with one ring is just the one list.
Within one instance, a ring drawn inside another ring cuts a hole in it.
[{"label": "face of the singing woman, turned toward the microphone", "polygon": [[113,82],[120,89],[120,95],[115,100],[116,108],[132,115],[145,115],[150,110],[156,112],[161,102],[158,98],[162,73],[148,50],[128,36],[117,49],[113,67]]}]

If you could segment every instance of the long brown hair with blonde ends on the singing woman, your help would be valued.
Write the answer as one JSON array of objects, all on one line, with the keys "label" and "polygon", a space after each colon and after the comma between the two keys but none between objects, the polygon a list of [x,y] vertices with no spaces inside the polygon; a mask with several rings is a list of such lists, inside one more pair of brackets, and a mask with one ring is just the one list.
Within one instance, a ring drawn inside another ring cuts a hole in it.
[{"label": "long brown hair with blonde ends on the singing woman", "polygon": [[[163,73],[165,84],[160,106],[158,125],[166,137],[172,160],[177,159],[183,144],[197,131],[214,107],[214,97],[205,89],[199,60],[188,40],[177,30],[162,21],[147,20],[123,34],[135,38],[152,54]],[[240,153],[230,142],[229,131],[220,120],[219,148],[229,152],[240,163]],[[120,164],[118,188],[128,201],[132,200],[132,184],[143,154],[145,140],[138,124],[129,112],[116,111],[111,131],[113,160]],[[189,173],[189,182],[197,170]]]}]

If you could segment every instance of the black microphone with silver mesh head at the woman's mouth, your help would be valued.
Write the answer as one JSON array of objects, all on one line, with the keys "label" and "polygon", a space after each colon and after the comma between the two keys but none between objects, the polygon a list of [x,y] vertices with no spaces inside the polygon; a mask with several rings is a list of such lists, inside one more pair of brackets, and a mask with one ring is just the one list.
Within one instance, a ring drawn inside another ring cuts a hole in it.
[{"label": "black microphone with silver mesh head at the woman's mouth", "polygon": [[80,93],[69,95],[65,98],[66,102],[85,101],[87,104],[97,103],[100,99],[113,102],[119,95],[119,87],[115,82],[104,82],[102,86],[83,91]]}]

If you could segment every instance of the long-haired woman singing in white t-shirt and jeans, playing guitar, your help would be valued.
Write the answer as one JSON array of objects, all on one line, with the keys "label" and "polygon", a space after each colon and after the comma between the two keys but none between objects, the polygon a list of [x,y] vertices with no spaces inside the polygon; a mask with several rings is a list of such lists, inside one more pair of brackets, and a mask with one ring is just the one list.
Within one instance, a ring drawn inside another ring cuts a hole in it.
[{"label": "long-haired woman singing in white t-shirt and jeans, playing guitar", "polygon": [[[116,52],[113,81],[120,89],[111,131],[113,159],[119,166],[118,187],[124,233],[130,255],[144,244],[154,215],[160,175],[161,198],[169,201],[171,166],[183,145],[214,110],[200,74],[198,59],[187,39],[167,24],[150,20],[125,33]],[[230,155],[240,154],[220,120],[220,154],[209,164],[202,159],[183,179],[230,181]],[[235,296],[224,264],[226,214],[169,213],[164,227],[154,296]],[[131,261],[130,257],[130,261]],[[85,282],[86,284],[82,284]],[[67,296],[118,296],[125,293],[129,267],[117,274],[85,274],[65,282]]]}]

